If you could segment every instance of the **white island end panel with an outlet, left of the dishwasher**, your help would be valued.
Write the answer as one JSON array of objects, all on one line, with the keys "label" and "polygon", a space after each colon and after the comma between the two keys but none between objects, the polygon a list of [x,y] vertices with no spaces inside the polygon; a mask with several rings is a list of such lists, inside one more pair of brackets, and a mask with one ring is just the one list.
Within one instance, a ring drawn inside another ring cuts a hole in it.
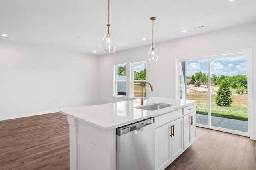
[{"label": "white island end panel with an outlet, left of the dishwasher", "polygon": [[79,169],[116,170],[116,129],[79,122]]}]

